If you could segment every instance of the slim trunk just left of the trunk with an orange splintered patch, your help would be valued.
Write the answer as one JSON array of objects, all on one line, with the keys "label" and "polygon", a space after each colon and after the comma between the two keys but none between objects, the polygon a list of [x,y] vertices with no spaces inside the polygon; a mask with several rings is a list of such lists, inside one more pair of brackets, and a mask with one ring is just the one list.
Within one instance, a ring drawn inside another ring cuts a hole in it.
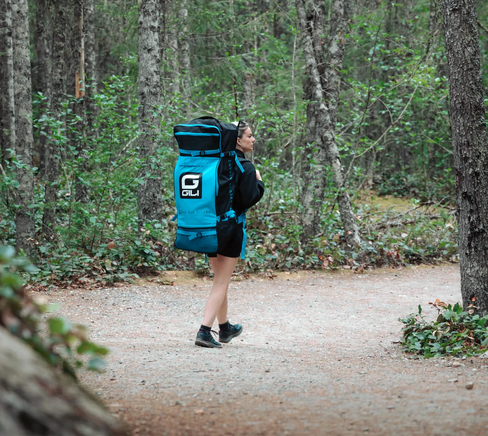
[{"label": "slim trunk just left of the trunk with an orange splintered patch", "polygon": [[[69,4],[64,0],[55,0],[53,55],[52,55],[52,97],[51,112],[58,120],[58,129],[62,128],[63,116],[61,115],[64,93],[64,49],[68,39],[66,38],[66,23],[68,19]],[[56,157],[58,156],[58,157]],[[44,227],[52,229],[56,218],[56,199],[58,191],[58,177],[60,173],[61,149],[55,140],[49,143],[49,166],[46,171],[46,189],[44,194],[44,216],[42,223]],[[47,230],[47,229],[43,229]]]}]

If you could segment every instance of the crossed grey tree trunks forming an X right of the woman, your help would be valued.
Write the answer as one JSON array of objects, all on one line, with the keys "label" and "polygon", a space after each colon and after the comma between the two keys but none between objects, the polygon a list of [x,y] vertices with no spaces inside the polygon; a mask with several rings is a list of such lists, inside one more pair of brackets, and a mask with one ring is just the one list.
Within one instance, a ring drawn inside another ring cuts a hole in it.
[{"label": "crossed grey tree trunks forming an X right of the woman", "polygon": [[[303,195],[304,242],[318,230],[318,217],[324,197],[323,165],[331,168],[337,190],[337,203],[341,214],[347,244],[359,245],[358,226],[352,211],[351,200],[345,189],[344,168],[335,141],[335,122],[339,99],[340,78],[344,59],[344,33],[348,19],[348,3],[334,0],[332,19],[327,43],[324,35],[325,6],[323,2],[310,0],[308,15],[305,0],[296,0],[298,20],[303,38],[307,79],[305,93],[311,100],[307,106],[307,155],[313,159],[305,176]],[[325,53],[326,52],[326,59]],[[313,145],[312,145],[313,144]],[[313,148],[318,149],[313,153]]]}]

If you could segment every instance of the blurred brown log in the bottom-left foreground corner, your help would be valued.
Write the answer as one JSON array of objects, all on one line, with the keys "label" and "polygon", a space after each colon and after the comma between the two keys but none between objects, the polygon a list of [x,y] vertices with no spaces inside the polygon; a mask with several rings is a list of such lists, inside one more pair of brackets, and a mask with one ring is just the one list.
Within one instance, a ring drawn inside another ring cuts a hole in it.
[{"label": "blurred brown log in the bottom-left foreground corner", "polygon": [[102,404],[3,328],[0,386],[0,435],[125,434]]}]

